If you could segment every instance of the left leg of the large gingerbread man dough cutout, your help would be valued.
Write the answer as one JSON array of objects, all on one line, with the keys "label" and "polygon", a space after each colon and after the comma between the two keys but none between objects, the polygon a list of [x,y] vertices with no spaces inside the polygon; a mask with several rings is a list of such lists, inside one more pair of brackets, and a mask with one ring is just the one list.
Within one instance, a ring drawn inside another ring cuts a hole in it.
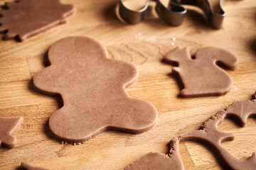
[{"label": "left leg of the large gingerbread man dough cutout", "polygon": [[50,130],[61,140],[85,142],[107,128],[99,115],[92,110],[80,111],[79,108],[64,106],[51,115]]}]

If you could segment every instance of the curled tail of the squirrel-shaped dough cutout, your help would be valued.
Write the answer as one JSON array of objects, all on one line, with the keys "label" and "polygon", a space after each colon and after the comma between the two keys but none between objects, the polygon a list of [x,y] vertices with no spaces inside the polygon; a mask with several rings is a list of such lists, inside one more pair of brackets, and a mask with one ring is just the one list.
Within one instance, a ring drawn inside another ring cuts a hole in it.
[{"label": "curled tail of the squirrel-shaped dough cutout", "polygon": [[198,50],[195,54],[196,59],[203,60],[204,62],[220,62],[224,64],[227,69],[236,69],[238,67],[238,58],[227,50],[217,47],[204,47]]}]

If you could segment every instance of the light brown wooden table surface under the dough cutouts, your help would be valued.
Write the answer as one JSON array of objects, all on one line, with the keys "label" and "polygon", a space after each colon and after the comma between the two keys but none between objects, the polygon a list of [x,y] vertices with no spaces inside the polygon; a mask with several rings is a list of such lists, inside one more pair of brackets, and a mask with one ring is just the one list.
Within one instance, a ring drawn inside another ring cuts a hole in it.
[{"label": "light brown wooden table surface under the dough cutouts", "polygon": [[[198,129],[210,115],[233,101],[252,98],[256,91],[255,0],[225,1],[227,16],[220,30],[208,27],[199,10],[188,11],[179,27],[160,21],[154,9],[146,21],[131,26],[117,20],[116,0],[66,0],[65,4],[74,4],[77,9],[67,24],[25,42],[0,40],[0,115],[24,118],[15,134],[16,147],[0,149],[0,169],[15,169],[21,162],[46,169],[123,169],[148,152],[168,153],[172,137]],[[138,81],[127,92],[156,106],[159,120],[154,128],[139,135],[107,131],[80,146],[61,145],[55,140],[48,119],[61,107],[61,99],[38,93],[32,80],[46,67],[50,45],[75,35],[95,38],[107,47],[110,58],[139,69]],[[178,97],[176,79],[169,75],[171,65],[161,62],[177,45],[188,47],[191,54],[207,46],[233,52],[240,61],[237,70],[228,71],[233,89],[225,96]],[[255,118],[249,118],[245,128],[225,120],[219,129],[235,134],[234,141],[223,143],[234,157],[247,159],[256,151]],[[180,153],[185,169],[220,169],[215,157],[198,143],[181,143]]]}]

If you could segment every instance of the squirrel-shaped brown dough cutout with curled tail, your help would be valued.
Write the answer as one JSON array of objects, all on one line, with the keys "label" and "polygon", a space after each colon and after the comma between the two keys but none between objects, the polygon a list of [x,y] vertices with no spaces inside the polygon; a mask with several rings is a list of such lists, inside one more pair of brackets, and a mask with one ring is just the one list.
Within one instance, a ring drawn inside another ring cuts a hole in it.
[{"label": "squirrel-shaped brown dough cutout with curled tail", "polygon": [[176,47],[164,57],[167,62],[177,62],[178,67],[173,68],[183,82],[181,90],[183,97],[224,95],[233,86],[229,75],[223,71],[217,62],[221,62],[228,69],[238,67],[238,59],[226,50],[216,47],[204,47],[191,58],[188,49]]}]

